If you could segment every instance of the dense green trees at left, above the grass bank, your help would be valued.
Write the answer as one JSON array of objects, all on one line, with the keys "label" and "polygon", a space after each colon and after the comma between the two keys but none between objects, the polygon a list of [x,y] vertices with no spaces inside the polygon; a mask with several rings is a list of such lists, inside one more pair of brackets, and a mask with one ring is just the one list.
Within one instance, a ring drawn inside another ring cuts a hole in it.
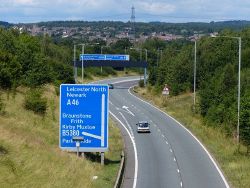
[{"label": "dense green trees at left, above the grass bank", "polygon": [[0,87],[37,87],[56,80],[73,83],[70,50],[47,36],[32,37],[0,28]]}]

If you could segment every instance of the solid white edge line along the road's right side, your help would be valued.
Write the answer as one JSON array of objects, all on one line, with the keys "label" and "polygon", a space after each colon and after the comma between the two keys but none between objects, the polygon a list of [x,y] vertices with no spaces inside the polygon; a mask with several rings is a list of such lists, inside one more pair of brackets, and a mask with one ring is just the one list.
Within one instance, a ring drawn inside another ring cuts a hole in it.
[{"label": "solid white edge line along the road's right side", "polygon": [[217,163],[215,162],[214,158],[213,158],[212,155],[208,152],[207,148],[199,141],[199,139],[198,139],[196,136],[194,136],[193,133],[192,133],[190,130],[188,130],[184,125],[182,125],[179,121],[177,121],[176,119],[174,119],[172,116],[170,116],[170,115],[167,114],[166,112],[162,111],[161,109],[157,108],[156,106],[150,104],[149,102],[144,101],[144,100],[142,100],[141,98],[139,98],[139,97],[133,95],[133,94],[130,92],[130,89],[131,89],[132,87],[134,87],[134,86],[131,86],[131,87],[128,89],[128,92],[129,92],[129,94],[130,94],[131,96],[133,96],[133,97],[137,98],[138,100],[140,100],[140,101],[142,101],[142,102],[148,104],[149,106],[155,108],[156,110],[158,110],[158,111],[164,113],[166,116],[168,116],[168,117],[171,118],[173,121],[175,121],[177,124],[179,124],[183,129],[185,129],[185,130],[186,130],[186,131],[187,131],[187,132],[188,132],[188,133],[189,133],[189,134],[199,143],[199,145],[200,145],[200,146],[202,147],[202,149],[206,152],[206,154],[208,155],[209,159],[210,159],[210,160],[212,161],[212,163],[214,164],[214,166],[215,166],[216,170],[218,171],[218,173],[220,174],[220,177],[222,178],[222,180],[223,180],[223,182],[224,182],[226,188],[230,188],[229,184],[227,183],[227,180],[226,180],[225,176],[223,175],[223,173],[222,173],[222,171],[220,170],[219,166],[218,166]]}]

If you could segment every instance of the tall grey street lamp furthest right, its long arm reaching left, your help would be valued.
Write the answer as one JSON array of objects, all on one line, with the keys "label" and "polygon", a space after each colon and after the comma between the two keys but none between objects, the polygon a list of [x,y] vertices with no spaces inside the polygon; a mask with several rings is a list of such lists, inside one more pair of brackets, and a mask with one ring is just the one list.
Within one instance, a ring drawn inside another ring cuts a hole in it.
[{"label": "tall grey street lamp furthest right, its long arm reaching left", "polygon": [[240,142],[240,67],[241,67],[241,37],[230,37],[230,36],[212,36],[213,38],[232,38],[237,39],[239,41],[239,65],[238,65],[238,118],[237,118],[237,143]]}]

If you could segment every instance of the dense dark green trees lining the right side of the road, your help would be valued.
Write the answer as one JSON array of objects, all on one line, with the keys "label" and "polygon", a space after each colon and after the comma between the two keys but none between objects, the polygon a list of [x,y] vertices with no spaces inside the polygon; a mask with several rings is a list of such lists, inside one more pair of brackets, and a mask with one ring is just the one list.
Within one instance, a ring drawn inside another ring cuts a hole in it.
[{"label": "dense dark green trees lining the right side of the road", "polygon": [[[240,141],[249,145],[250,29],[224,30],[220,35],[242,37]],[[149,84],[157,93],[165,84],[170,87],[171,95],[193,91],[194,42],[164,43],[154,39],[146,41],[142,47],[150,51]],[[238,40],[219,37],[198,40],[196,80],[200,99],[196,112],[204,117],[206,125],[222,127],[227,135],[236,137]]]}]

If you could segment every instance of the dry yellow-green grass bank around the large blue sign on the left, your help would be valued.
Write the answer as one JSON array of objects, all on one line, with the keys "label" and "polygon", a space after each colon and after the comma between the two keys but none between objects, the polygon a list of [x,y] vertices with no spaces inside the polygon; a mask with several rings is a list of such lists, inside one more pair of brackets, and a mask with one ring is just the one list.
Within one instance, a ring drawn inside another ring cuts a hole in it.
[{"label": "dry yellow-green grass bank around the large blue sign on the left", "polygon": [[19,88],[9,99],[7,93],[2,94],[5,113],[0,115],[0,187],[113,187],[123,148],[114,122],[110,119],[105,166],[95,153],[77,158],[58,147],[59,99],[54,88],[45,87],[49,102],[44,117],[24,109],[25,90]]}]

